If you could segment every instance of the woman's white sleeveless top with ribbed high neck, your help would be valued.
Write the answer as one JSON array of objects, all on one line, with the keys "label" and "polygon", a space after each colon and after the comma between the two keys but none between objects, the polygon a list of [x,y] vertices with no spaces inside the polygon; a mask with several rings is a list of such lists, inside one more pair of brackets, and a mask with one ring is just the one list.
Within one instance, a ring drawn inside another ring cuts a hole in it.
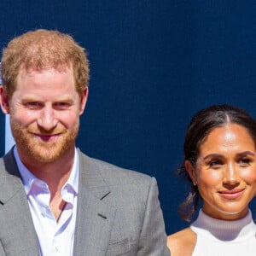
[{"label": "woman's white sleeveless top with ribbed high neck", "polygon": [[192,256],[255,256],[256,225],[252,212],[239,220],[211,218],[202,210],[190,225],[197,235]]}]

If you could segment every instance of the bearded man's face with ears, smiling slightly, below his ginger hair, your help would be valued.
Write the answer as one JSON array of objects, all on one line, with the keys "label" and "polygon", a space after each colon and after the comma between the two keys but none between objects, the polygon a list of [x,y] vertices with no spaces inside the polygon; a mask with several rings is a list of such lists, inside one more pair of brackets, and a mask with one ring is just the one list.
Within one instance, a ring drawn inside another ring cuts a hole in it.
[{"label": "bearded man's face with ears, smiling slightly, below his ginger hair", "polygon": [[82,99],[75,90],[73,69],[42,71],[20,69],[17,86],[6,113],[21,160],[50,163],[72,152],[84,112],[87,90]]}]

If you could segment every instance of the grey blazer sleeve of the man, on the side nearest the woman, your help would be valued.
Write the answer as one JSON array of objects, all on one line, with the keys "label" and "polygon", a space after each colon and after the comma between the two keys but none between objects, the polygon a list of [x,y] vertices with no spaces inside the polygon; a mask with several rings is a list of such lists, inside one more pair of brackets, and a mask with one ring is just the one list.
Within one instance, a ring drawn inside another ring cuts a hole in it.
[{"label": "grey blazer sleeve of the man, on the side nearest the woman", "polygon": [[160,208],[159,191],[154,177],[148,189],[148,199],[144,212],[143,229],[137,256],[170,256],[166,246],[166,230]]}]

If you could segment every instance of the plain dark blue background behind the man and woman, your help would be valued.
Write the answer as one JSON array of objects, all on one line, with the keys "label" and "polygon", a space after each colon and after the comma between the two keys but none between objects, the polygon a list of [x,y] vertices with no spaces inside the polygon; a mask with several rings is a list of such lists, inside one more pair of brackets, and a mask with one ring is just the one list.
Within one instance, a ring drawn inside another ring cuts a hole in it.
[{"label": "plain dark blue background behind the man and woman", "polygon": [[[188,188],[174,172],[191,116],[225,102],[256,117],[255,13],[252,0],[2,1],[0,47],[49,28],[88,50],[90,95],[77,144],[156,177],[170,234],[187,225],[177,207]],[[2,113],[0,127],[3,155]]]}]

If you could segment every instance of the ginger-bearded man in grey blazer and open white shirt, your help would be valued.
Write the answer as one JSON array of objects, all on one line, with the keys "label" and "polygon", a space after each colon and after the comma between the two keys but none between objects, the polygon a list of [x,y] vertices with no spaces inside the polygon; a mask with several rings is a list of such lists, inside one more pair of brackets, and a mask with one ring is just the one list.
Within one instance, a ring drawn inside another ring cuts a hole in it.
[{"label": "ginger-bearded man in grey blazer and open white shirt", "polygon": [[84,49],[61,32],[26,32],[1,68],[15,147],[0,159],[0,255],[170,255],[155,179],[75,148]]}]

